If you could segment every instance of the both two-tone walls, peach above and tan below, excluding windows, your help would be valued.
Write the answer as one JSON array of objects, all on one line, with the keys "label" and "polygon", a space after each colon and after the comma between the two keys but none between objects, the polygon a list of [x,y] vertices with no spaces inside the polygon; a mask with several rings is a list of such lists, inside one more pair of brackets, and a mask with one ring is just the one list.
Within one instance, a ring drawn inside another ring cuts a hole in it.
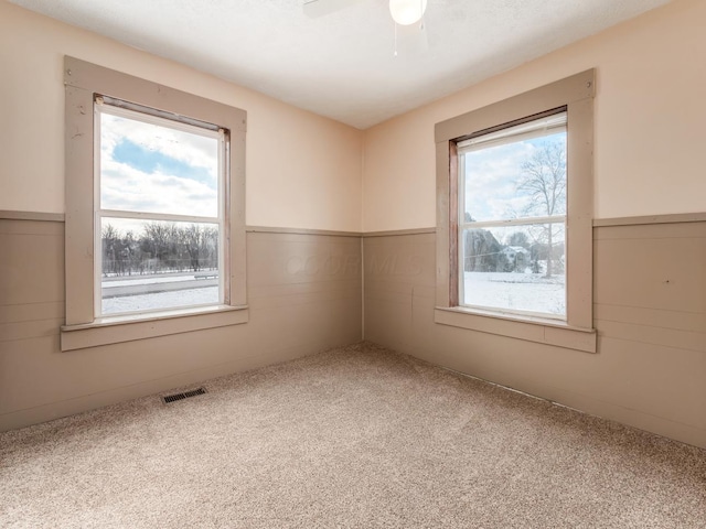
[{"label": "both two-tone walls, peach above and tan below, excluding windows", "polygon": [[69,54],[246,109],[247,222],[276,227],[248,233],[248,324],[61,353],[63,224],[0,219],[0,429],[356,342],[360,238],[285,228],[359,231],[361,171],[365,231],[432,227],[435,122],[597,67],[598,354],[434,324],[434,233],[364,238],[365,335],[706,446],[703,216],[609,220],[706,209],[705,18],[706,4],[677,1],[383,123],[364,134],[363,169],[360,131],[0,3],[0,210],[63,212],[61,65]]}]

